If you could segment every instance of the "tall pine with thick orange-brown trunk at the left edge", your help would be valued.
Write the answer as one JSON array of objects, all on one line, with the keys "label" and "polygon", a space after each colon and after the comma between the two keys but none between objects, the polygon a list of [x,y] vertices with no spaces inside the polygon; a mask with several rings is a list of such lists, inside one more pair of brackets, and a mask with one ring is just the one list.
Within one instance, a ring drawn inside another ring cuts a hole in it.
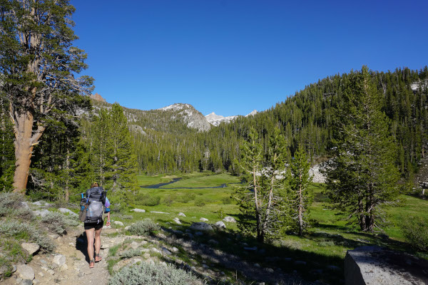
[{"label": "tall pine with thick orange-brown trunk at the left edge", "polygon": [[88,76],[74,78],[87,67],[86,54],[72,46],[74,10],[68,0],[0,4],[0,89],[14,128],[16,192],[26,190],[31,153],[47,122],[76,113],[80,93],[92,85]]}]

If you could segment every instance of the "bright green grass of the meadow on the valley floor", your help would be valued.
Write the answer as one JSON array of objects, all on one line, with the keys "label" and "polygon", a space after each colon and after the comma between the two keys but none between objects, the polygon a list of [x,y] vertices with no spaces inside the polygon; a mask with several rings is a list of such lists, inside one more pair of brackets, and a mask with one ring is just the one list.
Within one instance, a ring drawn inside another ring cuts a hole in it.
[{"label": "bright green grass of the meadow on the valley floor", "polygon": [[[156,185],[162,182],[170,182],[172,178],[177,176],[158,176],[158,177],[138,177],[141,185]],[[141,188],[139,195],[143,197],[159,197],[159,204],[147,206],[141,204],[143,199],[136,199],[134,206],[141,209],[146,209],[146,213],[133,213],[128,215],[128,219],[121,219],[125,225],[132,224],[137,220],[149,217],[161,224],[163,227],[171,229],[179,229],[184,231],[192,222],[200,222],[200,218],[208,219],[208,223],[215,223],[223,219],[225,216],[232,216],[238,219],[238,205],[230,199],[233,194],[233,185],[239,183],[238,177],[233,177],[228,174],[213,175],[212,173],[193,173],[182,176],[183,179],[174,182],[170,185],[163,186],[158,189]],[[217,187],[225,184],[225,187]],[[185,187],[201,187],[202,189],[180,189]],[[206,188],[204,188],[206,187]],[[168,189],[165,189],[168,188]],[[404,235],[399,227],[407,217],[418,215],[424,219],[428,219],[428,202],[424,199],[402,195],[399,197],[400,202],[394,207],[383,207],[387,224],[384,224],[383,234],[387,234],[389,239],[384,239],[382,232],[377,234],[363,233],[358,231],[355,225],[348,224],[348,220],[342,214],[328,209],[330,203],[328,197],[322,194],[323,185],[313,183],[310,187],[310,193],[313,197],[313,202],[310,207],[311,227],[308,229],[305,237],[298,237],[290,234],[283,237],[280,241],[275,241],[273,244],[265,245],[263,248],[267,254],[272,256],[292,257],[295,260],[305,260],[310,264],[307,266],[307,274],[310,269],[322,268],[326,264],[332,264],[343,268],[343,259],[348,249],[354,249],[363,245],[379,245],[381,247],[390,247],[392,249],[405,250],[412,252],[419,257],[427,258],[428,255],[422,252],[414,252],[412,247],[407,243]],[[144,196],[146,195],[146,196]],[[168,214],[152,213],[166,212]],[[183,212],[186,217],[179,217],[183,225],[178,225],[173,222],[178,213]],[[115,219],[113,217],[113,219]],[[235,223],[225,223],[226,232],[219,233],[218,240],[220,247],[223,250],[232,252],[233,254],[244,254],[245,259],[253,259],[255,257],[245,256],[245,252],[236,251],[235,244],[225,242],[233,240],[237,237],[237,226]],[[207,237],[207,239],[212,237]],[[204,237],[198,237],[200,242],[208,242]],[[255,239],[245,238],[245,243],[249,246],[258,246]],[[254,259],[254,262],[260,260]],[[284,264],[282,267],[285,271],[292,267]],[[292,269],[290,269],[292,270]],[[325,269],[327,270],[327,269]],[[342,275],[330,274],[333,280],[327,280],[331,284],[340,284],[339,280]],[[330,277],[329,277],[330,278]],[[334,279],[335,278],[335,279]]]}]

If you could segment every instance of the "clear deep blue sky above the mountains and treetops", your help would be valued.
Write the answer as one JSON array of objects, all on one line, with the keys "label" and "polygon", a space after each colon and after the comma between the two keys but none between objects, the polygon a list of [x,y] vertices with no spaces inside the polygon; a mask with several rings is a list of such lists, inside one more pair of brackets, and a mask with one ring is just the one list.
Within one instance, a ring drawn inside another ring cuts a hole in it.
[{"label": "clear deep blue sky above the mountains and treetops", "polygon": [[336,73],[428,65],[428,1],[71,0],[94,93],[150,110],[266,110]]}]

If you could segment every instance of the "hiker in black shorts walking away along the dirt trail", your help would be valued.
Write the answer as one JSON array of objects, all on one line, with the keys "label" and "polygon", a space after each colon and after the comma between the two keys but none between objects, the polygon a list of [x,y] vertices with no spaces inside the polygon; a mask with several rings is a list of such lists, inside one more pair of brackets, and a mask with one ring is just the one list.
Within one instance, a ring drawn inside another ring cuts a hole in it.
[{"label": "hiker in black shorts walking away along the dirt trail", "polygon": [[[107,213],[106,226],[110,226],[110,202],[106,197],[103,187],[99,187],[97,182],[91,185],[91,189],[86,190],[86,198],[89,202],[88,212],[85,220],[85,232],[88,239],[89,268],[95,266],[95,262],[101,261],[101,230],[103,229],[103,212]],[[106,210],[104,211],[104,207]],[[93,257],[93,245],[95,238],[95,258]]]}]

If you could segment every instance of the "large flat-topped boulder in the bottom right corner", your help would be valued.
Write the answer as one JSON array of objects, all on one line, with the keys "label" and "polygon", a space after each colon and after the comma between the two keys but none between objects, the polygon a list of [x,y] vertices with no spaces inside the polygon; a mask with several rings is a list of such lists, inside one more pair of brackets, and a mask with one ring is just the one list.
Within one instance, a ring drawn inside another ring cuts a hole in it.
[{"label": "large flat-topped boulder in the bottom right corner", "polygon": [[357,247],[345,257],[345,284],[428,284],[428,261],[382,247]]}]

